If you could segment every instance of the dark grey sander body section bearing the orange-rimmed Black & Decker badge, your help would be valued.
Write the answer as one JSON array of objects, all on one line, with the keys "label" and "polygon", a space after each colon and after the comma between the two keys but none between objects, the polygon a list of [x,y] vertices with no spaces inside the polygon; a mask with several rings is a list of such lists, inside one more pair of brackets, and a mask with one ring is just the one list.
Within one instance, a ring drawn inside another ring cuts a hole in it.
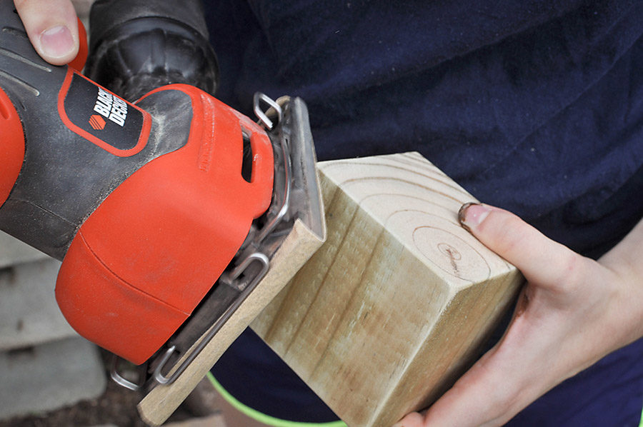
[{"label": "dark grey sander body section bearing the orange-rimmed Black & Decker badge", "polygon": [[147,144],[145,109],[42,60],[11,0],[0,0],[0,89],[5,109],[19,116],[25,150],[0,228],[54,258],[64,257],[82,221],[127,176],[176,149]]}]

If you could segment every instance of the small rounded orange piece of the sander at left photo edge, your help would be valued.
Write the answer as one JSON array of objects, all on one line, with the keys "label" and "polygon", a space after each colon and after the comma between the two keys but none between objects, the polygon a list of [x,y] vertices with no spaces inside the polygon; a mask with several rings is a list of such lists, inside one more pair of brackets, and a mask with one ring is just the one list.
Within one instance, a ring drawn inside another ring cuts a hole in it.
[{"label": "small rounded orange piece of the sander at left photo edge", "polygon": [[0,89],[0,206],[4,204],[16,184],[24,161],[24,132],[18,111]]}]

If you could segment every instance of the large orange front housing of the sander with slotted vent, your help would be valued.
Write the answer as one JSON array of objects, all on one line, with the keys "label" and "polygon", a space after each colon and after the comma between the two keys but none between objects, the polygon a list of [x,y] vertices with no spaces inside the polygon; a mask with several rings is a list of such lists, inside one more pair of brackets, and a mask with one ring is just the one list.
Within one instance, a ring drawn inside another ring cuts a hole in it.
[{"label": "large orange front housing of the sander with slotted vent", "polygon": [[[187,144],[141,167],[87,218],[56,283],[71,326],[136,364],[213,286],[252,220],[269,208],[273,185],[263,129],[193,86],[161,90],[191,97]],[[241,176],[243,134],[253,154],[251,182]]]}]

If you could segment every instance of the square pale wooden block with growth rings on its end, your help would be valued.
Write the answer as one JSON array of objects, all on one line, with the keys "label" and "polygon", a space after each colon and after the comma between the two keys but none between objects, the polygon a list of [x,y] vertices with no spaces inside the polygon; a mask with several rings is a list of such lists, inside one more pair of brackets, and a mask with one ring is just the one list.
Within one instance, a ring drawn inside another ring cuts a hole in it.
[{"label": "square pale wooden block with growth rings on its end", "polygon": [[419,154],[319,164],[327,242],[252,323],[351,427],[427,407],[522,277],[459,225],[475,199]]}]

